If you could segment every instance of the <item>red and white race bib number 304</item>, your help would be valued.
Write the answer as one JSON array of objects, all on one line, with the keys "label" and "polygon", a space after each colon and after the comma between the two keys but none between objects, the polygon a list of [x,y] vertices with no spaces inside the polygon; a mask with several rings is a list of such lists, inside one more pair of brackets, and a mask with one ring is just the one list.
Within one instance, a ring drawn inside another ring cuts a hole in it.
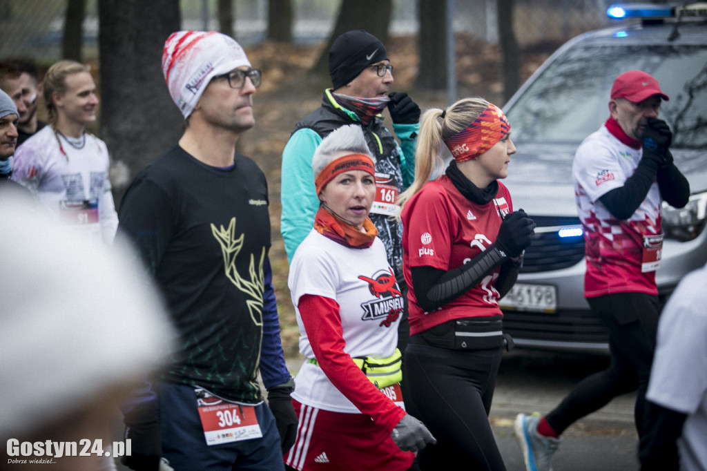
[{"label": "red and white race bib number 304", "polygon": [[233,404],[204,390],[197,390],[197,397],[206,445],[221,445],[262,437],[255,407]]}]

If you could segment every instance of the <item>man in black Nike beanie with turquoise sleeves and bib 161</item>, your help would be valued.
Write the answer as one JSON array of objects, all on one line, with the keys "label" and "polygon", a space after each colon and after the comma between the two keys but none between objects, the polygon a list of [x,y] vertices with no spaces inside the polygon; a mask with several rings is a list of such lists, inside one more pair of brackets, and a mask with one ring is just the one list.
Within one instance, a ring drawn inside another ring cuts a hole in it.
[{"label": "man in black Nike beanie with turquoise sleeves and bib 161", "polygon": [[[334,129],[358,124],[376,159],[376,197],[369,216],[378,228],[399,287],[404,289],[402,224],[395,218],[395,201],[414,180],[420,108],[407,93],[390,92],[392,70],[385,46],[370,33],[353,30],[334,41],[329,50],[332,88],[325,90],[322,105],[295,125],[282,153],[281,232],[288,260],[292,260],[298,245],[312,230],[319,209],[312,174],[314,151]],[[399,143],[383,124],[380,113],[385,107]],[[409,325],[407,313],[398,314],[403,315],[398,342],[402,351]],[[381,322],[385,315],[371,320]]]}]

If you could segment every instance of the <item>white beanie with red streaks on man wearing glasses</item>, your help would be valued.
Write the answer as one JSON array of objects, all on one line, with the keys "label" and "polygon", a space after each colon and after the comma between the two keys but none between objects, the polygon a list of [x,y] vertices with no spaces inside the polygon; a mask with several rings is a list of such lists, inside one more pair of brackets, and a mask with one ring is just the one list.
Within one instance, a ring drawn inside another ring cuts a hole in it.
[{"label": "white beanie with red streaks on man wearing glasses", "polygon": [[165,41],[162,72],[172,100],[189,117],[211,79],[250,67],[243,47],[217,31],[177,31]]}]

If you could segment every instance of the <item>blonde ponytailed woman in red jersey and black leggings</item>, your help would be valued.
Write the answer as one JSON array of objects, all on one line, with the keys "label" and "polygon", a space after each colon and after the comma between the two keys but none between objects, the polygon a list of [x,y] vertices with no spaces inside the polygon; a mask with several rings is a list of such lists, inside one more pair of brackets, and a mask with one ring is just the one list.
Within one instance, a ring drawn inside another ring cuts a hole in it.
[{"label": "blonde ponytailed woman in red jersey and black leggings", "polygon": [[[440,152],[453,160],[444,175]],[[499,182],[515,146],[503,112],[481,98],[428,110],[415,181],[400,195],[410,342],[405,405],[437,438],[422,470],[505,470],[489,425],[504,345],[498,299],[518,275],[535,224]]]}]

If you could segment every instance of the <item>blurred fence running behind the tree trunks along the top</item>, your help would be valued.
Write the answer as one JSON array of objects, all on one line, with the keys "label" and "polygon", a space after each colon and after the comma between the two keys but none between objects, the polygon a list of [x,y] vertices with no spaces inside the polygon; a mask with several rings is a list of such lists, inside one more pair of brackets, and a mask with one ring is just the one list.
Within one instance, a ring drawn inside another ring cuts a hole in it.
[{"label": "blurred fence running behind the tree trunks along the top", "polygon": [[[98,55],[98,1],[86,1],[83,57]],[[293,0],[295,42],[327,38],[334,27],[339,2]],[[444,0],[440,0],[444,1]],[[607,0],[516,0],[513,28],[521,46],[562,42],[583,31],[609,24]],[[66,0],[0,0],[0,59],[33,57],[37,62],[61,59]],[[217,29],[216,0],[181,0],[182,28]],[[455,0],[454,28],[488,42],[498,40],[496,0]],[[235,35],[244,44],[266,37],[267,0],[233,0]],[[156,13],[158,14],[158,13]],[[417,31],[417,0],[394,0],[392,35]]]}]

